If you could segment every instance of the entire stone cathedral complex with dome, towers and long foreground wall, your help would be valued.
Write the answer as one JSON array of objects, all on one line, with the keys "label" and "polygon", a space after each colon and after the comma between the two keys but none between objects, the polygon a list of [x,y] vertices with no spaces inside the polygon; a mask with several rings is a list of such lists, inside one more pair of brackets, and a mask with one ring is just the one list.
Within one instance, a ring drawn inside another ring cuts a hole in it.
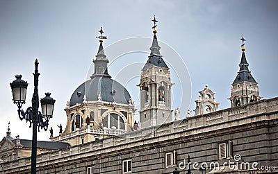
[{"label": "entire stone cathedral complex with dome, towers and long foreground wall", "polygon": [[[172,121],[174,83],[160,53],[157,21],[152,21],[150,53],[138,72],[140,108],[108,73],[109,56],[103,45],[107,37],[101,28],[92,59],[95,70],[67,102],[67,125],[60,125],[60,134],[51,134],[51,141],[38,141],[37,173],[278,173],[278,97],[260,96],[244,37],[240,68],[228,98],[231,107],[218,110],[215,92],[205,85],[195,100],[195,114],[188,110],[179,119],[177,108]],[[140,123],[134,119],[137,110]],[[8,128],[0,142],[0,174],[30,173],[30,142],[12,138]]]}]

